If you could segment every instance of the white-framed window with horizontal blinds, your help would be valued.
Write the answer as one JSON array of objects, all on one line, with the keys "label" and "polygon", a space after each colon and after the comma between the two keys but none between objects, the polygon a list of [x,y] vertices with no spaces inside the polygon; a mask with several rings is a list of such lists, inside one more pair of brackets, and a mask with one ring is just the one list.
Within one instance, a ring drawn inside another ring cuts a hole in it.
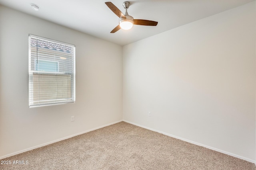
[{"label": "white-framed window with horizontal blinds", "polygon": [[29,107],[74,103],[75,46],[29,35]]}]

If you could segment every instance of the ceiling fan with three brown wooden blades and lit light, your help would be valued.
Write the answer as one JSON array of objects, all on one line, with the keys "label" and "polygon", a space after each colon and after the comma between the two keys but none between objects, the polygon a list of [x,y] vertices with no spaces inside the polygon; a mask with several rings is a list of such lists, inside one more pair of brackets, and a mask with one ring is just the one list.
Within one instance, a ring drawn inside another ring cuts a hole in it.
[{"label": "ceiling fan with three brown wooden blades and lit light", "polygon": [[123,3],[125,13],[123,14],[112,2],[105,2],[105,4],[119,17],[119,25],[117,25],[110,33],[115,33],[119,29],[131,29],[133,25],[147,25],[156,26],[158,22],[150,20],[136,20],[132,16],[129,16],[127,9],[130,6],[130,2]]}]

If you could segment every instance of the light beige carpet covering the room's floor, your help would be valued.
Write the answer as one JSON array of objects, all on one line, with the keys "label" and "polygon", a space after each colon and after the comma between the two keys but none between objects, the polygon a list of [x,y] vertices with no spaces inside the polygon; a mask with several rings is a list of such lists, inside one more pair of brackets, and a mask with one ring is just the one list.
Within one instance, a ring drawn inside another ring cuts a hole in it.
[{"label": "light beige carpet covering the room's floor", "polygon": [[245,160],[126,122],[3,160],[24,164],[0,164],[1,170],[256,170]]}]

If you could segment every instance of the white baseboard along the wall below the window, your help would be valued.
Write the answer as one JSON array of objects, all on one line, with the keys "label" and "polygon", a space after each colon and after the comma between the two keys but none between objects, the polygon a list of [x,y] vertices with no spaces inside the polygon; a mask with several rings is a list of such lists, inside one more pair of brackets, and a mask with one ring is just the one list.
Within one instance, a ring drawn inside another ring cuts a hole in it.
[{"label": "white baseboard along the wall below the window", "polygon": [[0,159],[8,158],[8,157],[10,157],[10,156],[13,156],[13,155],[16,155],[16,154],[20,154],[20,153],[22,153],[22,152],[26,152],[26,151],[29,151],[29,150],[32,150],[32,149],[36,149],[36,148],[40,148],[40,147],[43,147],[43,146],[46,146],[46,145],[50,145],[50,144],[52,144],[52,143],[56,143],[56,142],[58,142],[58,141],[62,141],[62,140],[65,140],[65,139],[68,139],[68,138],[71,138],[71,137],[74,137],[74,136],[77,136],[77,135],[82,135],[82,134],[84,134],[84,133],[87,133],[87,132],[90,132],[90,131],[94,131],[94,130],[96,130],[96,129],[100,129],[100,128],[102,128],[102,127],[106,127],[106,126],[109,126],[109,125],[113,125],[113,124],[119,123],[119,122],[121,122],[121,121],[122,121],[122,120],[116,121],[116,122],[113,122],[113,123],[109,123],[109,124],[107,124],[107,125],[103,125],[103,126],[100,126],[100,127],[96,127],[96,128],[94,128],[94,129],[90,129],[90,130],[88,130],[88,131],[76,133],[76,134],[70,135],[70,136],[68,136],[68,137],[64,137],[64,138],[57,139],[57,140],[54,140],[54,141],[51,141],[51,142],[48,142],[48,143],[44,143],[44,144],[42,144],[42,145],[37,145],[37,146],[35,146],[35,147],[31,147],[31,148],[28,148],[28,149],[20,150],[20,151],[18,151],[18,152],[14,152],[14,153],[11,153],[11,154],[7,154],[7,155],[4,155],[4,156],[0,156]]}]

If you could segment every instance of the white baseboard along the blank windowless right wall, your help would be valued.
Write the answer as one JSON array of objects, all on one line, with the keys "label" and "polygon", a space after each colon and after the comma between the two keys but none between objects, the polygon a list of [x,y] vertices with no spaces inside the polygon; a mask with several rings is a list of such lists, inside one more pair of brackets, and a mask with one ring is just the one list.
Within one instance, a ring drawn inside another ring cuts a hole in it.
[{"label": "white baseboard along the blank windowless right wall", "polygon": [[224,150],[220,150],[220,149],[216,149],[216,148],[213,148],[213,147],[209,147],[209,146],[203,145],[203,144],[201,144],[201,143],[197,143],[197,142],[194,142],[194,141],[190,141],[190,140],[188,140],[188,139],[184,139],[184,138],[181,138],[181,137],[177,137],[177,136],[174,136],[174,135],[171,135],[171,134],[168,134],[168,133],[164,133],[164,132],[162,132],[162,131],[158,131],[158,130],[156,130],[156,129],[152,129],[152,128],[149,128],[149,127],[142,126],[142,125],[138,125],[138,124],[132,123],[132,122],[130,122],[130,121],[126,121],[126,120],[123,120],[123,121],[125,121],[125,122],[127,122],[127,123],[130,123],[130,124],[132,124],[132,125],[136,125],[136,126],[139,126],[139,127],[142,127],[142,128],[148,129],[148,130],[151,130],[151,131],[155,131],[155,132],[158,132],[158,133],[162,133],[162,134],[164,134],[164,135],[167,135],[167,136],[170,136],[170,137],[174,137],[174,138],[176,138],[176,139],[180,139],[180,140],[186,141],[186,142],[188,142],[188,143],[192,143],[192,144],[195,144],[195,145],[198,145],[198,146],[201,146],[201,147],[205,147],[205,148],[208,148],[208,149],[211,149],[211,150],[215,150],[215,151],[217,151],[217,152],[221,152],[221,153],[224,153],[224,154],[227,154],[227,155],[230,155],[230,156],[234,156],[234,157],[236,157],[236,158],[240,158],[240,159],[242,159],[242,160],[246,160],[246,161],[248,161],[248,162],[252,162],[252,163],[256,164],[255,160],[252,160],[252,159],[249,159],[249,158],[245,158],[245,157],[239,156],[239,155],[237,155],[237,154],[232,154],[232,153],[226,152],[226,151],[224,151]]}]

